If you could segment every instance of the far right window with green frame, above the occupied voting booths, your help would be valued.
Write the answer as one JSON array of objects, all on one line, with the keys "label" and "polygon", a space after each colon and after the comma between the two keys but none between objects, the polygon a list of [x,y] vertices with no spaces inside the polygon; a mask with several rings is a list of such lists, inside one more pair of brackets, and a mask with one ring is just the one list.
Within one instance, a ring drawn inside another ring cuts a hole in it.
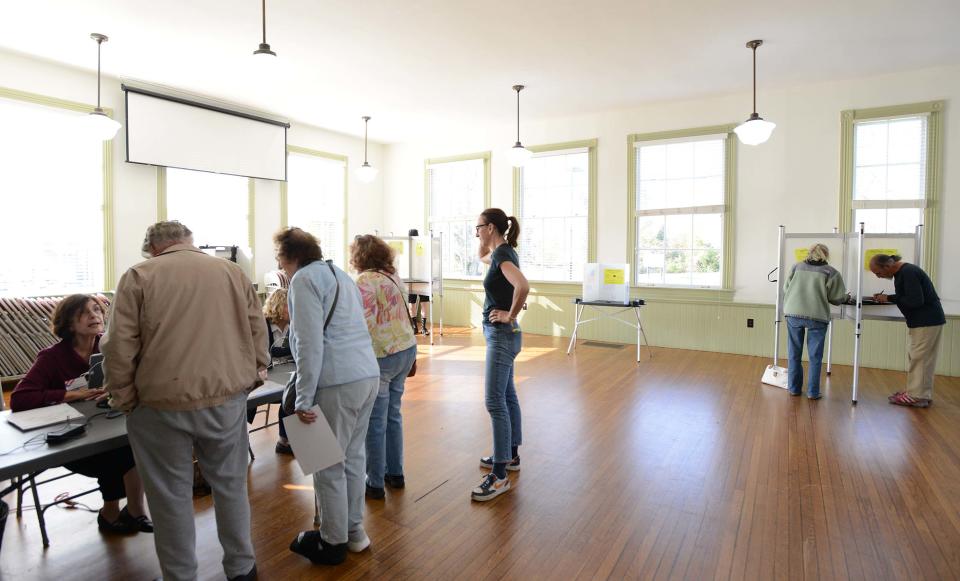
[{"label": "far right window with green frame, above the occupied voting booths", "polygon": [[844,231],[912,233],[924,226],[924,267],[937,251],[942,101],[841,114]]}]

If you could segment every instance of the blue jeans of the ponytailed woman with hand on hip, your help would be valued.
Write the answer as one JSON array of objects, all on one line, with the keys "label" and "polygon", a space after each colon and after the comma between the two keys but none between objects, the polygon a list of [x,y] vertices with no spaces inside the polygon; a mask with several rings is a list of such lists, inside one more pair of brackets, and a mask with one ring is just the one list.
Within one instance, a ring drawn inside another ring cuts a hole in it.
[{"label": "blue jeans of the ponytailed woman with hand on hip", "polygon": [[484,395],[493,422],[493,461],[513,460],[511,446],[523,441],[520,427],[520,400],[513,385],[513,360],[520,353],[523,335],[509,323],[483,322],[487,339],[487,368]]}]

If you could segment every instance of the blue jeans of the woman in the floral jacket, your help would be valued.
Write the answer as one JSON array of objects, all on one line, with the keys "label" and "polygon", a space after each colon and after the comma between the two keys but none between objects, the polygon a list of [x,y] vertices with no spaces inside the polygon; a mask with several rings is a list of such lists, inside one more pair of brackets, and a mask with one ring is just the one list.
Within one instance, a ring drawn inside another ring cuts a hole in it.
[{"label": "blue jeans of the woman in the floral jacket", "polygon": [[[377,359],[380,391],[370,413],[367,429],[367,484],[383,488],[386,474],[403,474],[403,416],[400,398],[407,374],[417,359],[417,346]],[[384,458],[386,456],[386,458]]]}]

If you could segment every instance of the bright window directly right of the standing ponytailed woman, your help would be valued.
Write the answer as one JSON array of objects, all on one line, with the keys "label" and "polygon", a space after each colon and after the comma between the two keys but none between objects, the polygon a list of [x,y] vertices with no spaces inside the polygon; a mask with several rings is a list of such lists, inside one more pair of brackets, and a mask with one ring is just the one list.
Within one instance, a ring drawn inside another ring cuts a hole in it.
[{"label": "bright window directly right of the standing ponytailed woman", "polygon": [[582,281],[592,256],[596,142],[533,149],[516,173],[520,264],[530,280]]}]

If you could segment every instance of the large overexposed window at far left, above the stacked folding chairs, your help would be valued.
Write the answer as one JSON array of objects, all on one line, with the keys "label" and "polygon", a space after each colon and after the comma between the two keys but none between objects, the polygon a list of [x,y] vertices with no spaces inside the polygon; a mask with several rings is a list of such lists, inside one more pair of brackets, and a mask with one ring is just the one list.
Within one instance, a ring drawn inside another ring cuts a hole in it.
[{"label": "large overexposed window at far left, above the stacked folding chairs", "polygon": [[0,90],[0,296],[112,285],[111,146],[84,134],[80,120],[90,110]]}]

